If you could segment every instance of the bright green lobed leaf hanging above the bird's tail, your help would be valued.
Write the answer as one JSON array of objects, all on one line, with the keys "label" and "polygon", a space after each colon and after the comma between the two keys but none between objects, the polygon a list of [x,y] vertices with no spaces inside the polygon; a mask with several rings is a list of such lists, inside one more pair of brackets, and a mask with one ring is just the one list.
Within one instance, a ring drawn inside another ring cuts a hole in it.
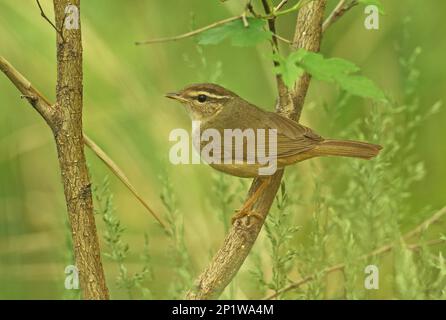
[{"label": "bright green lobed leaf hanging above the bird's tail", "polygon": [[275,71],[282,75],[287,87],[291,88],[296,80],[308,72],[315,79],[335,83],[343,90],[365,98],[386,101],[384,93],[371,81],[356,75],[359,68],[352,62],[340,58],[324,58],[320,53],[299,49],[288,57],[274,55],[278,63]]}]

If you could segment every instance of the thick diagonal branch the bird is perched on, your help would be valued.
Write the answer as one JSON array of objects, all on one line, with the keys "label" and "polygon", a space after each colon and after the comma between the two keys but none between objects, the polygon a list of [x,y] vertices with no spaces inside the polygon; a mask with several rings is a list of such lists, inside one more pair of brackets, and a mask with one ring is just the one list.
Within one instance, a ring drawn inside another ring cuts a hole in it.
[{"label": "thick diagonal branch the bird is perched on", "polygon": [[[322,21],[326,0],[314,0],[303,6],[298,13],[295,48],[319,48],[322,31]],[[303,18],[305,17],[305,19]],[[298,34],[308,32],[298,37]],[[296,88],[297,90],[301,90]],[[305,92],[296,92],[294,95],[305,96]],[[304,99],[301,100],[302,104]],[[283,101],[280,101],[283,103]],[[302,106],[291,104],[279,105],[278,111],[284,115],[298,119],[296,109]],[[257,236],[262,229],[263,223],[268,215],[269,209],[274,201],[277,190],[283,176],[283,170],[271,176],[265,191],[256,200],[253,210],[262,217],[248,221],[249,218],[237,220],[226,236],[222,247],[217,251],[210,264],[198,276],[193,288],[186,294],[187,299],[215,299],[220,296],[225,287],[231,282],[239,271]],[[259,178],[254,179],[249,197],[262,184]],[[250,223],[251,222],[251,223]]]}]

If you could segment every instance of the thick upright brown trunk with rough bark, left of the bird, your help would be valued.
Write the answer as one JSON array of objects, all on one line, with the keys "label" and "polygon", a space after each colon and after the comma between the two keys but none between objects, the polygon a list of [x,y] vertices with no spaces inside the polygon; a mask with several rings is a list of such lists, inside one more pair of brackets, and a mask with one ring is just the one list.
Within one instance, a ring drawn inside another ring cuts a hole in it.
[{"label": "thick upright brown trunk with rough bark, left of the bird", "polygon": [[[68,6],[71,11],[66,12]],[[76,12],[77,10],[77,12]],[[82,38],[80,0],[54,0],[57,34],[56,139],[76,266],[84,299],[108,299],[93,215],[82,134]],[[66,14],[72,28],[65,29]],[[76,28],[77,27],[77,28]],[[63,33],[63,38],[62,38]]]}]

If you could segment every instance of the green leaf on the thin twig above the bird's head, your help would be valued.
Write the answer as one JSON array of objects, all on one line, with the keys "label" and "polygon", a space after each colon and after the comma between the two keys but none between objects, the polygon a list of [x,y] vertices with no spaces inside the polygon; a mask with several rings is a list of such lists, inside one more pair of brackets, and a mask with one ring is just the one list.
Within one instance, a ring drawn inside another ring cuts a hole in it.
[{"label": "green leaf on the thin twig above the bird's head", "polygon": [[248,27],[245,27],[242,19],[228,22],[224,25],[212,28],[200,33],[198,43],[201,45],[218,44],[229,38],[234,46],[248,47],[271,39],[272,33],[265,30],[266,21],[248,18]]}]

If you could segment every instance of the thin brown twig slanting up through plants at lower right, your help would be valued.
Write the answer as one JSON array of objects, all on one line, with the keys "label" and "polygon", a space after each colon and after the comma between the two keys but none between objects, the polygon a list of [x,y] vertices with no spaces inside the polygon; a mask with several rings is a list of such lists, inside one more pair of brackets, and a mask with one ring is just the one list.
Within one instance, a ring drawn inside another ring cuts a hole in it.
[{"label": "thin brown twig slanting up through plants at lower right", "polygon": [[[414,228],[413,230],[409,231],[408,233],[406,233],[402,239],[408,240],[410,238],[412,238],[415,235],[420,234],[421,232],[423,232],[424,230],[426,230],[429,226],[431,226],[432,224],[434,224],[435,222],[439,221],[444,215],[446,215],[446,207],[444,207],[443,209],[437,211],[434,215],[432,215],[430,218],[428,218],[427,220],[423,221],[420,225],[418,225],[416,228]],[[436,245],[436,244],[441,244],[441,243],[445,243],[446,240],[444,239],[434,239],[434,240],[430,240],[427,241],[424,244],[409,244],[407,245],[407,248],[410,250],[416,250],[421,248],[423,245]],[[381,255],[383,253],[389,252],[391,251],[395,246],[395,243],[389,243],[386,245],[383,245],[382,247],[373,250],[370,253],[367,253],[361,257],[358,258],[358,260],[364,260],[370,257],[374,257],[377,255]],[[276,297],[278,297],[279,295],[281,295],[282,293],[294,290],[299,288],[300,286],[304,285],[305,283],[312,281],[313,279],[315,279],[318,275],[322,275],[322,274],[328,274],[328,273],[332,273],[334,271],[338,271],[338,270],[342,270],[345,268],[345,263],[339,263],[336,264],[332,267],[328,267],[323,269],[322,271],[319,271],[317,273],[313,273],[309,276],[306,276],[296,282],[293,282],[292,284],[288,285],[287,287],[277,291],[276,293],[266,297],[266,300],[271,300],[274,299]]]}]

